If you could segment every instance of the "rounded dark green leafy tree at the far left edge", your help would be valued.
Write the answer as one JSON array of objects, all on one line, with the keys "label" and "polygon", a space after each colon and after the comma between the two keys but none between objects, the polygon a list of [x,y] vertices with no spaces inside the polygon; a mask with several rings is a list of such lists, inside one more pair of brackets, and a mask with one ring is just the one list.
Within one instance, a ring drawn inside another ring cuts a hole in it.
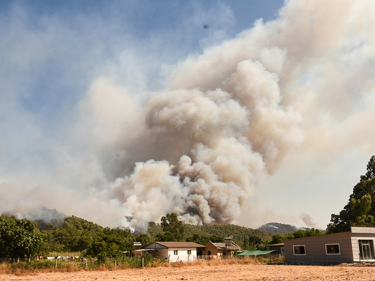
[{"label": "rounded dark green leafy tree at the far left edge", "polygon": [[34,256],[40,249],[41,237],[34,222],[0,216],[0,256]]}]

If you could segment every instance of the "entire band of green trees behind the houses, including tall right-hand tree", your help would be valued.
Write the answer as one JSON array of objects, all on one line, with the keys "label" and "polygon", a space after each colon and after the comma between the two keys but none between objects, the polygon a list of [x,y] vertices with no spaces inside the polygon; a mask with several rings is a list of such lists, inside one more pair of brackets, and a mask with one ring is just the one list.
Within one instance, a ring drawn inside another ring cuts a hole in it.
[{"label": "entire band of green trees behind the houses, including tall right-hand tree", "polygon": [[[367,164],[367,172],[354,186],[349,202],[339,214],[331,215],[327,234],[350,231],[350,225],[375,225],[375,156]],[[60,225],[43,224],[15,217],[0,216],[0,257],[47,256],[50,252],[81,252],[82,255],[110,256],[134,250],[138,241],[191,241],[205,245],[208,241],[233,241],[243,250],[265,250],[269,244],[285,239],[323,235],[318,229],[299,229],[292,233],[271,235],[269,232],[238,225],[190,225],[178,220],[175,213],[151,222],[147,233],[134,234],[125,228],[102,227],[72,216]]]}]

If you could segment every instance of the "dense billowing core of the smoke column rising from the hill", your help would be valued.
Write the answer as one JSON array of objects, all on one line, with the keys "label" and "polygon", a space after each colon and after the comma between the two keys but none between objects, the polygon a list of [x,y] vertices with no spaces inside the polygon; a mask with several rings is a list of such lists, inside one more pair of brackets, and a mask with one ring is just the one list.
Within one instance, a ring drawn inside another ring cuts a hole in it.
[{"label": "dense billowing core of the smoke column rising from the hill", "polygon": [[300,116],[280,104],[278,82],[277,73],[245,59],[221,88],[153,96],[139,138],[163,161],[137,163],[112,185],[129,224],[144,227],[170,212],[193,224],[233,222],[267,170],[303,139]]}]

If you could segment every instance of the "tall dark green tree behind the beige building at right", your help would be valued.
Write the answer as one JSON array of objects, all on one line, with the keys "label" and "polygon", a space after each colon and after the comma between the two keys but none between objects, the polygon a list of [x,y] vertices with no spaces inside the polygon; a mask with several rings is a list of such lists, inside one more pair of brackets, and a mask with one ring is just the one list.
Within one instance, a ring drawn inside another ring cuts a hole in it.
[{"label": "tall dark green tree behind the beige building at right", "polygon": [[375,225],[375,156],[367,164],[367,171],[353,188],[348,204],[338,214],[331,215],[327,234],[350,231],[351,224]]}]

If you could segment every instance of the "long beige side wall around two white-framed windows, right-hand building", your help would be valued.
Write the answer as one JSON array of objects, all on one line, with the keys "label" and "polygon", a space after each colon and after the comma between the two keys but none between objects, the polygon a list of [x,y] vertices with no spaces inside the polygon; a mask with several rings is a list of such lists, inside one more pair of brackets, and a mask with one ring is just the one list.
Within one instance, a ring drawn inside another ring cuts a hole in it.
[{"label": "long beige side wall around two white-framed windows, right-hand building", "polygon": [[[353,262],[354,246],[351,235],[350,232],[344,232],[284,240],[285,261],[293,263]],[[339,244],[340,254],[326,254],[326,244]],[[305,245],[305,255],[295,255],[293,251],[295,245]]]}]

